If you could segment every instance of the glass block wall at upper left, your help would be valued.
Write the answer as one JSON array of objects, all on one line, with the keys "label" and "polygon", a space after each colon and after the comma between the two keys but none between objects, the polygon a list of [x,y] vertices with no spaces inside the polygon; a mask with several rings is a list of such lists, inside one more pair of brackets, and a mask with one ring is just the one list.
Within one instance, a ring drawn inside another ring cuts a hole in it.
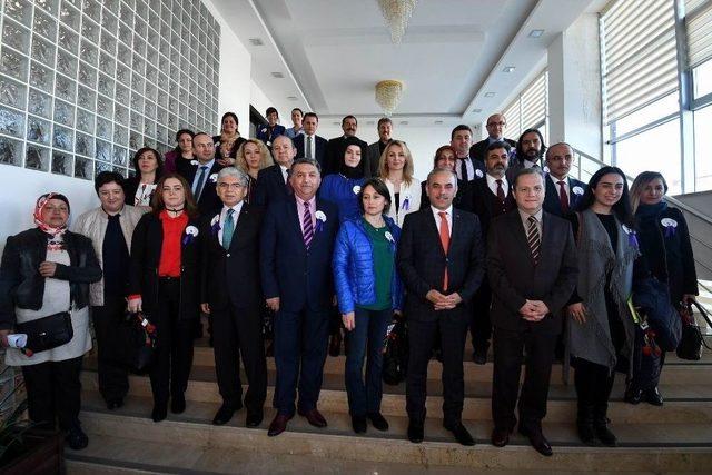
[{"label": "glass block wall at upper left", "polygon": [[0,6],[0,164],[127,176],[137,149],[219,127],[220,27],[200,0]]}]

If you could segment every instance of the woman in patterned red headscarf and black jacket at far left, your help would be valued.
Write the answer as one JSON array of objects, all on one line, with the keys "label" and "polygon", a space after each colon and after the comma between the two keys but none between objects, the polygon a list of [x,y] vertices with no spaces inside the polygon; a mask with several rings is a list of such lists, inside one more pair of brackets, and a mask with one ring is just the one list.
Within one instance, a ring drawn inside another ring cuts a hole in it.
[{"label": "woman in patterned red headscarf and black jacket at far left", "polygon": [[65,195],[42,195],[34,207],[37,227],[8,238],[0,265],[0,339],[4,347],[13,333],[31,339],[27,325],[37,327],[46,317],[67,323],[69,314],[69,342],[37,353],[8,348],[6,364],[22,367],[30,419],[48,429],[59,419],[69,446],[80,449],[89,442],[79,423],[81,359],[91,349],[89,284],[101,279],[101,267],[91,240],[67,229],[69,212]]}]

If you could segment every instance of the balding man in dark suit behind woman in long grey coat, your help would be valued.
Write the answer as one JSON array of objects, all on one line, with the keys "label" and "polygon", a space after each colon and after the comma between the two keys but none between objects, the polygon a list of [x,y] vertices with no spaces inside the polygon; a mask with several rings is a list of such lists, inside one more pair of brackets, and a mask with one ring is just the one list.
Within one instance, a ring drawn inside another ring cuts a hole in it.
[{"label": "balding man in dark suit behind woman in long grey coat", "polygon": [[544,210],[556,216],[565,216],[573,211],[584,191],[586,184],[568,176],[574,150],[566,142],[554,144],[546,150],[546,197]]}]

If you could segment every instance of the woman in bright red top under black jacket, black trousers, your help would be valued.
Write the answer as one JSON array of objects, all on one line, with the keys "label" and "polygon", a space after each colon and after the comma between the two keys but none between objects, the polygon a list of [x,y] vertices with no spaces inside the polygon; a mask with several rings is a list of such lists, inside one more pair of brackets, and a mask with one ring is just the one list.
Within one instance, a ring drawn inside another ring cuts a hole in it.
[{"label": "woman in bright red top under black jacket, black trousers", "polygon": [[129,309],[156,326],[150,372],[154,422],[186,409],[192,366],[192,334],[199,318],[200,239],[190,187],[176,174],[158,181],[152,212],[144,215],[131,240]]}]

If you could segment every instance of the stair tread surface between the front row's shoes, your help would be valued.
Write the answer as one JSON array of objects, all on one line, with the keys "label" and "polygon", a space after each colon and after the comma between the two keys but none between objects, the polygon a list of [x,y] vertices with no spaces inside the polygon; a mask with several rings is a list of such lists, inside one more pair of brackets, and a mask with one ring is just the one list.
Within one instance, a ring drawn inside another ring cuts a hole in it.
[{"label": "stair tread surface between the front row's shoes", "polygon": [[[196,403],[189,402],[186,412],[184,414],[168,414],[168,423],[182,422],[191,423],[202,426],[205,429],[214,427],[211,425],[212,416],[219,407],[219,404],[210,403]],[[150,420],[150,412],[152,408],[152,399],[149,397],[129,396],[126,399],[123,407],[115,410],[106,409],[103,400],[98,393],[85,392],[82,394],[82,422],[87,419],[87,416],[96,417],[102,415],[106,419],[109,417],[116,424],[121,424],[126,417],[134,417],[150,423],[154,428],[160,428],[166,424],[152,423]],[[405,414],[400,416],[389,415],[387,417],[390,424],[388,432],[379,432],[374,429],[370,425],[366,434],[356,436],[350,426],[350,416],[345,413],[323,412],[325,418],[328,422],[328,427],[319,429],[310,426],[306,418],[295,416],[288,424],[287,431],[293,433],[309,433],[309,434],[329,434],[329,435],[343,435],[349,437],[368,437],[368,438],[386,438],[386,439],[405,439],[407,429],[407,417]],[[245,428],[245,409],[235,414],[233,419],[226,425],[226,427],[235,427],[244,429],[253,435],[265,435],[266,428],[269,426],[271,418],[275,415],[275,409],[271,407],[265,407],[265,419],[257,429]],[[491,420],[468,420],[465,419],[464,424],[471,429],[473,436],[478,444],[487,444],[490,441],[490,434],[492,432]],[[88,426],[90,429],[92,424]],[[625,447],[685,447],[685,446],[700,446],[712,448],[712,424],[709,420],[701,420],[700,423],[685,423],[674,424],[657,423],[655,417],[651,416],[647,422],[631,424],[621,423],[614,419],[611,424],[611,428],[617,435],[621,446]],[[580,446],[581,443],[576,436],[575,424],[567,423],[551,423],[544,422],[544,433],[553,445],[558,446]],[[170,431],[167,431],[166,436],[169,436]],[[426,419],[425,427],[426,439],[435,442],[451,442],[453,439],[449,432],[442,426],[442,419],[436,416],[428,417]],[[136,434],[137,437],[142,435]],[[528,446],[527,441],[518,434],[514,434],[512,437],[512,445]]]}]

